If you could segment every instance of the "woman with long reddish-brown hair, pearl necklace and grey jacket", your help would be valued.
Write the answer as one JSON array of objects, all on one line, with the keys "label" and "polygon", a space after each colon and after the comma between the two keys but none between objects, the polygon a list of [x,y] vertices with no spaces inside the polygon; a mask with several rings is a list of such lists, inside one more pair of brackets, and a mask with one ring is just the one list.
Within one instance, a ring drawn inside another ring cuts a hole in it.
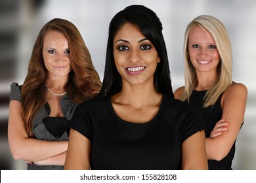
[{"label": "woman with long reddish-brown hair, pearl necklace and grey jacket", "polygon": [[35,41],[23,85],[11,84],[11,154],[28,169],[63,169],[77,105],[100,91],[100,78],[74,24],[55,18]]}]

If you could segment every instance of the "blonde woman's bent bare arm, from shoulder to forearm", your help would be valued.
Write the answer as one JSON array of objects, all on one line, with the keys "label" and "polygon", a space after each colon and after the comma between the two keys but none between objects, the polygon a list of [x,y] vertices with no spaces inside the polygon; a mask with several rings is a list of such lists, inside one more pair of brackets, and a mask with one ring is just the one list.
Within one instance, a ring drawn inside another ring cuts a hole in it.
[{"label": "blonde woman's bent bare arm, from shoulder to forearm", "polygon": [[246,100],[247,88],[243,84],[232,84],[232,86],[223,93],[223,118],[226,118],[228,122],[228,129],[222,131],[222,134],[214,139],[206,139],[208,159],[219,161],[230,151],[234,141],[236,141],[238,137],[242,122],[244,121]]}]

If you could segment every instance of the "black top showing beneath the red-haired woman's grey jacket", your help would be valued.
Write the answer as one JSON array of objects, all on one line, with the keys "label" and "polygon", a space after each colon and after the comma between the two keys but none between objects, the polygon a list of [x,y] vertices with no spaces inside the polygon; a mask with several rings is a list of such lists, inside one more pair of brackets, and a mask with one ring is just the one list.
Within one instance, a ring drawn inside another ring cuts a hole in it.
[{"label": "black top showing beneath the red-haired woman's grey jacket", "polygon": [[69,132],[68,123],[69,121],[65,117],[47,116],[43,118],[46,129],[56,138],[60,138],[65,131]]}]

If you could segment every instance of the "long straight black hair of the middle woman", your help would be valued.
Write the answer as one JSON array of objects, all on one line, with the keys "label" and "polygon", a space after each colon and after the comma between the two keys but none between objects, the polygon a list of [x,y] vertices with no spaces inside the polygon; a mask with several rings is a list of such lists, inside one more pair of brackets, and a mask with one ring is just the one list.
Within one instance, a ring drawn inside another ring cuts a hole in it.
[{"label": "long straight black hair of the middle woman", "polygon": [[160,58],[160,63],[158,63],[156,72],[154,73],[154,86],[158,92],[170,93],[173,97],[169,61],[162,34],[162,24],[155,12],[142,5],[131,5],[126,7],[120,12],[117,12],[110,22],[108,29],[104,79],[99,96],[113,95],[114,93],[121,91],[121,76],[114,64],[113,41],[117,31],[119,31],[125,23],[137,25],[142,34],[152,42],[152,44],[154,44]]}]

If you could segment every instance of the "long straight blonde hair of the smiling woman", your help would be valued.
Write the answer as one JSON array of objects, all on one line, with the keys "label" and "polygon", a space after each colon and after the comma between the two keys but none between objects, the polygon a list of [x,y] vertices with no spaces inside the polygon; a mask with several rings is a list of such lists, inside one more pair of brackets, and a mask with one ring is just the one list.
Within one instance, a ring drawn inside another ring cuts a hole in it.
[{"label": "long straight blonde hair of the smiling woman", "polygon": [[187,25],[185,35],[184,35],[184,80],[185,88],[181,95],[181,100],[188,100],[191,93],[193,92],[196,84],[198,83],[198,78],[196,76],[196,69],[190,61],[188,55],[188,35],[193,26],[198,25],[211,33],[213,40],[215,41],[217,50],[220,55],[220,62],[217,68],[217,79],[211,85],[209,90],[205,93],[203,107],[209,107],[215,104],[219,95],[227,90],[227,88],[232,84],[232,50],[230,39],[228,37],[228,32],[226,28],[221,23],[220,20],[213,16],[201,15],[192,20],[190,24]]}]

